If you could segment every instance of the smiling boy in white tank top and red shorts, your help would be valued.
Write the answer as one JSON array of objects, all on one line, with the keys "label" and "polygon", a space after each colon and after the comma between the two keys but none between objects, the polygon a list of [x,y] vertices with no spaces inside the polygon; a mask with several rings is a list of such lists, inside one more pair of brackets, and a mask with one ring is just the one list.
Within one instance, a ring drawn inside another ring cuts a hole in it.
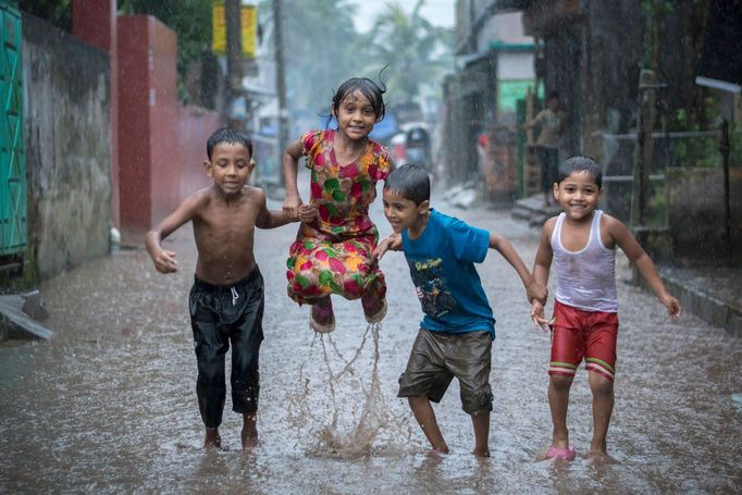
[{"label": "smiling boy in white tank top and red shorts", "polygon": [[572,157],[561,163],[554,197],[564,212],[544,224],[533,265],[535,283],[546,284],[552,260],[557,272],[552,320],[544,318],[545,301],[533,299],[531,306],[533,322],[544,331],[553,329],[548,405],[554,431],[545,458],[574,459],[567,406],[574,372],[584,359],[595,428],[588,457],[611,461],[606,434],[614,409],[618,334],[616,246],[635,264],[669,317],[677,320],[681,312],[680,302],[665,289],[652,259],[627,226],[596,209],[603,193],[602,178],[601,166],[590,158]]}]

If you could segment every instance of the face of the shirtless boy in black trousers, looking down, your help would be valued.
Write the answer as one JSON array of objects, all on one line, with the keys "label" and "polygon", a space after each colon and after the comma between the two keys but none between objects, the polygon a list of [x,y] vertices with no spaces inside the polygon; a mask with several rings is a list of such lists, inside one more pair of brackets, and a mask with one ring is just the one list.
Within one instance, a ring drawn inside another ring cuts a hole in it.
[{"label": "face of the shirtless boy in black trousers, looking down", "polygon": [[237,143],[220,143],[211,151],[211,159],[203,162],[206,173],[225,195],[239,193],[250,180],[255,163],[250,162],[247,148]]}]

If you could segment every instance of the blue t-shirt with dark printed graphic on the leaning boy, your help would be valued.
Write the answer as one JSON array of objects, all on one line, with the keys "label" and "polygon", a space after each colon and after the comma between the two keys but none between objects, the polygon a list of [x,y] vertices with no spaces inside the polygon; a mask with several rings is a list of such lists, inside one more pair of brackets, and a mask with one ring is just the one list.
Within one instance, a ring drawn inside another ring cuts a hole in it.
[{"label": "blue t-shirt with dark printed graphic on the leaning boy", "polygon": [[490,249],[490,233],[431,210],[425,230],[403,250],[425,317],[420,326],[433,332],[486,330],[495,338],[495,318],[474,269]]}]

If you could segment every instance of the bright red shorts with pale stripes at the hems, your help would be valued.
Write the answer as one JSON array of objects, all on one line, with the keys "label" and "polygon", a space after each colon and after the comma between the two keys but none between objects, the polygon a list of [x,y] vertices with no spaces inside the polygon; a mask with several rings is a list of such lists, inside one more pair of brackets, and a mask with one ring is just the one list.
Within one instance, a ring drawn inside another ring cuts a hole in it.
[{"label": "bright red shorts with pale stripes at the hems", "polygon": [[574,376],[584,359],[589,371],[613,382],[616,373],[618,313],[583,311],[556,301],[554,319],[548,374]]}]

